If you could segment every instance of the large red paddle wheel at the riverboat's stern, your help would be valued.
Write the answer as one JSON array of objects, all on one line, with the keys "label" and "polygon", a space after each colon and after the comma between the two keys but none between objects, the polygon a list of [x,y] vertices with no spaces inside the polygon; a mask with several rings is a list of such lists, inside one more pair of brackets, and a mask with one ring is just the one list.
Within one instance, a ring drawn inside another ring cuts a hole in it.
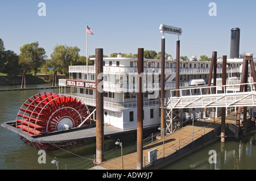
[{"label": "large red paddle wheel at the riverboat's stern", "polygon": [[[81,100],[44,92],[31,96],[22,104],[16,117],[16,128],[33,136],[76,128],[88,116],[88,108]],[[86,120],[84,124],[89,121]],[[35,145],[40,147],[38,143]]]}]

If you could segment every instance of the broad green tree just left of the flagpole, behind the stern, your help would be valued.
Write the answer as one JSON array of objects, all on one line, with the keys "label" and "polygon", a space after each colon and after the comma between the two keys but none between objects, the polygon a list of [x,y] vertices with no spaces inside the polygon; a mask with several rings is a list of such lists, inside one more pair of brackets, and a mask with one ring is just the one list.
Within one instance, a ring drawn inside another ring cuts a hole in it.
[{"label": "broad green tree just left of the flagpole, behind the stern", "polygon": [[79,60],[80,49],[78,47],[68,47],[66,45],[57,45],[51,54],[50,65],[61,74],[68,75],[68,66],[76,65]]}]

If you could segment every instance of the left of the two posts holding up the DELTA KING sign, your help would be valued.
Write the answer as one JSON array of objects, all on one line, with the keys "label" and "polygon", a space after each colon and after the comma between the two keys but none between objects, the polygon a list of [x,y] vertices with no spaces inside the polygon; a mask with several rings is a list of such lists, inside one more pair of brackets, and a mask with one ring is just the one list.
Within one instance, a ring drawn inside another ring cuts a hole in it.
[{"label": "left of the two posts holding up the DELTA KING sign", "polygon": [[[165,97],[165,92],[164,92],[164,85],[166,82],[165,74],[164,74],[164,68],[165,68],[165,41],[164,37],[162,38],[162,50],[161,50],[161,120],[160,120],[160,127],[161,130],[165,128],[165,121],[164,121],[164,97]],[[163,136],[164,132],[160,131],[161,136]]]}]

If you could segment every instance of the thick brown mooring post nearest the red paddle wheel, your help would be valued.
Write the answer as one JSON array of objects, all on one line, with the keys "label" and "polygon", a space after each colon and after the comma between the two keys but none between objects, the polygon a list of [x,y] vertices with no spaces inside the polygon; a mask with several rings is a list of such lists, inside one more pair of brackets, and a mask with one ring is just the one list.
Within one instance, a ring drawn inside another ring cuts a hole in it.
[{"label": "thick brown mooring post nearest the red paddle wheel", "polygon": [[96,161],[104,161],[103,49],[96,48]]}]

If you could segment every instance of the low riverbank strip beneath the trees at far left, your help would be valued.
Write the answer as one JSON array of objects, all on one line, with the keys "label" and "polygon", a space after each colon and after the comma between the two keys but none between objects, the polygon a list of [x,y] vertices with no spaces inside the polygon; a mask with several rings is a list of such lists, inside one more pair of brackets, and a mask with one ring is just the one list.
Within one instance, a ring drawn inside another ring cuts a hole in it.
[{"label": "low riverbank strip beneath the trees at far left", "polygon": [[[59,78],[67,78],[67,76],[61,75],[61,74],[57,75],[57,82]],[[26,85],[49,83],[49,82],[52,82],[52,79],[53,79],[52,74],[26,75]],[[0,76],[1,86],[21,85],[21,83],[22,83],[22,76],[18,76],[18,77]]]}]

